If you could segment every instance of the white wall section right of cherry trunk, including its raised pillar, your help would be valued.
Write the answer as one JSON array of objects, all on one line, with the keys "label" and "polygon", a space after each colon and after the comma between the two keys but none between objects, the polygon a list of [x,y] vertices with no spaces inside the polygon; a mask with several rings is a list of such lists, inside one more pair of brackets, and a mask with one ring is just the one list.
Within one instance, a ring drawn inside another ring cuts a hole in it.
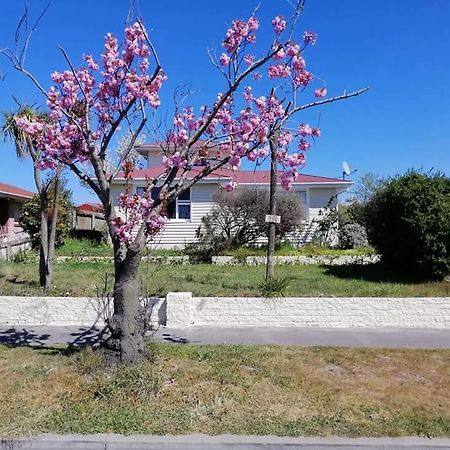
[{"label": "white wall section right of cherry trunk, including its raised pillar", "polygon": [[[450,328],[450,298],[167,298],[167,326]],[[178,310],[178,311],[176,311]],[[187,311],[188,310],[188,311]]]}]

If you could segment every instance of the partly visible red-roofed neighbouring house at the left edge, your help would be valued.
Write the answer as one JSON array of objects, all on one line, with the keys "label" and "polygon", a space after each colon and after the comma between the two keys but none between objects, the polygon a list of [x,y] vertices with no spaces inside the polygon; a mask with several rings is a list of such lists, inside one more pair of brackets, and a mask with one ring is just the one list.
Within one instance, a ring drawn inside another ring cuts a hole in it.
[{"label": "partly visible red-roofed neighbouring house at the left edge", "polygon": [[9,259],[30,248],[29,236],[20,227],[19,217],[23,203],[33,195],[31,191],[0,183],[0,259]]}]

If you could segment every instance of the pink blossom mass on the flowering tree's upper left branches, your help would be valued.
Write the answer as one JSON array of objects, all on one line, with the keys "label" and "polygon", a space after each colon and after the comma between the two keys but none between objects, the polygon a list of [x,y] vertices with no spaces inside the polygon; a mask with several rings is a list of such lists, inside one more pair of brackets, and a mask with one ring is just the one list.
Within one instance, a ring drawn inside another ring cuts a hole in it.
[{"label": "pink blossom mass on the flowering tree's upper left branches", "polygon": [[166,76],[162,71],[155,76],[147,73],[149,56],[146,32],[135,23],[125,29],[120,47],[112,34],[106,36],[101,72],[93,56],[84,55],[85,67],[52,73],[55,85],[47,93],[51,120],[18,120],[18,126],[41,150],[40,167],[55,167],[57,161],[70,164],[88,160],[96,143],[104,140],[131,102],[159,106],[158,91]]}]

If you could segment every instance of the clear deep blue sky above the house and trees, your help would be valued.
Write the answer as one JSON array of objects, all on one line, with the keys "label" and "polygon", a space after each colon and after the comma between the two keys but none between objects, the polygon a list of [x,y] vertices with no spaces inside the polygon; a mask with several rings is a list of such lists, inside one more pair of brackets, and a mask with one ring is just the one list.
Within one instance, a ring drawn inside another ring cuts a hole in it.
[{"label": "clear deep blue sky above the house and trees", "polygon": [[[36,16],[47,0],[29,3]],[[227,24],[247,18],[257,0],[139,3],[169,76],[161,109],[170,109],[173,90],[185,83],[197,90],[196,104],[211,103],[224,86],[206,49],[220,52]],[[98,55],[108,31],[120,35],[128,9],[128,0],[51,1],[33,36],[28,68],[49,87],[49,74],[66,68],[57,45],[75,63],[82,53]],[[19,0],[2,9],[0,47],[13,45],[22,11]],[[267,23],[280,11],[286,14],[288,4],[262,0],[260,11]],[[320,122],[322,130],[305,173],[340,176],[345,159],[359,169],[353,179],[369,171],[389,176],[411,167],[450,174],[449,24],[447,0],[307,0],[298,32],[308,29],[319,35],[306,55],[309,70],[326,80],[330,95],[364,86],[370,91],[298,117],[299,122]],[[0,71],[6,74],[0,82],[0,110],[14,108],[12,95],[44,104],[5,58],[0,59]],[[0,181],[33,190],[29,162],[18,161],[11,144],[0,142],[0,149]],[[76,182],[71,187],[76,202],[93,200]]]}]

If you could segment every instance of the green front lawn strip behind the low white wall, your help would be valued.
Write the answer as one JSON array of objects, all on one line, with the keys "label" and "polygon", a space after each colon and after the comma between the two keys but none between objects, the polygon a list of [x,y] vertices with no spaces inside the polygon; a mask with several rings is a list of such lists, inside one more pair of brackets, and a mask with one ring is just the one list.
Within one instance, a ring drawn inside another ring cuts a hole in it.
[{"label": "green front lawn strip behind the low white wall", "polygon": [[[197,296],[259,296],[264,266],[155,265],[143,262],[141,279],[150,295],[190,291]],[[42,295],[37,264],[0,263],[2,295]],[[108,261],[55,263],[54,287],[46,295],[95,296],[112,280]],[[290,277],[287,296],[427,297],[450,296],[450,283],[418,281],[394,275],[380,264],[367,266],[277,266],[277,277]]]}]

